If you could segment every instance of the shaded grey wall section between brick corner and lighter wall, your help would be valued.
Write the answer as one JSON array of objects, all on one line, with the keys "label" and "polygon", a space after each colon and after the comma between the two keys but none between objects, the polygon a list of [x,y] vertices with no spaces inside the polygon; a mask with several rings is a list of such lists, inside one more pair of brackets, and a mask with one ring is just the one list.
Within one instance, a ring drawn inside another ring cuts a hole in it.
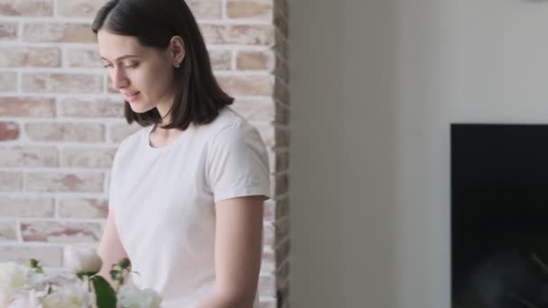
[{"label": "shaded grey wall section between brick corner and lighter wall", "polygon": [[391,4],[291,3],[292,306],[391,307]]}]

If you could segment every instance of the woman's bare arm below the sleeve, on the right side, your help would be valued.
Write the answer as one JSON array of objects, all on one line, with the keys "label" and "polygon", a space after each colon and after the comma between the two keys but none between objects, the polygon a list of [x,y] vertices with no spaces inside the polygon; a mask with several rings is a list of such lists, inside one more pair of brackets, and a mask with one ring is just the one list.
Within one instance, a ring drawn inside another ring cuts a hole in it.
[{"label": "woman's bare arm below the sleeve, on the right side", "polygon": [[199,308],[252,307],[260,271],[263,196],[215,204],[215,292]]}]

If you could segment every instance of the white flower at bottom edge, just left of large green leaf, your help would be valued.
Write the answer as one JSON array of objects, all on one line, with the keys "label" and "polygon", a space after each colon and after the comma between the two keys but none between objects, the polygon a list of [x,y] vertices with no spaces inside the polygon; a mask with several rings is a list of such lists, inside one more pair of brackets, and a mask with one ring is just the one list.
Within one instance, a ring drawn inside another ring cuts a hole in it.
[{"label": "white flower at bottom edge, just left of large green leaf", "polygon": [[82,308],[89,303],[89,294],[81,284],[63,285],[41,299],[43,308]]}]

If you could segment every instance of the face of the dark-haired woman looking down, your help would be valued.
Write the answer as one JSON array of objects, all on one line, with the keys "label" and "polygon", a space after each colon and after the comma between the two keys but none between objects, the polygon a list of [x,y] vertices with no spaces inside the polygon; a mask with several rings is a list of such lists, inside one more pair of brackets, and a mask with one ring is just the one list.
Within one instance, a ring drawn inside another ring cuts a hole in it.
[{"label": "face of the dark-haired woman looking down", "polygon": [[[174,96],[174,59],[168,50],[142,46],[135,37],[97,32],[99,53],[114,89],[120,91],[135,113],[158,107],[169,110]],[[163,115],[163,114],[162,114]]]}]

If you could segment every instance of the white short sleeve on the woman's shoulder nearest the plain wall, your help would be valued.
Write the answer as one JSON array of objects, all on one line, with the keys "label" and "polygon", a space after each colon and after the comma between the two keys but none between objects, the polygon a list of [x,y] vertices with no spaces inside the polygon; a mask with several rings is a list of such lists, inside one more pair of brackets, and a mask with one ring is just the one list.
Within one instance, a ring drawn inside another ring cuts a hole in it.
[{"label": "white short sleeve on the woman's shoulder nearest the plain wall", "polygon": [[214,201],[246,195],[270,196],[269,156],[259,131],[237,123],[211,140],[206,174]]}]

